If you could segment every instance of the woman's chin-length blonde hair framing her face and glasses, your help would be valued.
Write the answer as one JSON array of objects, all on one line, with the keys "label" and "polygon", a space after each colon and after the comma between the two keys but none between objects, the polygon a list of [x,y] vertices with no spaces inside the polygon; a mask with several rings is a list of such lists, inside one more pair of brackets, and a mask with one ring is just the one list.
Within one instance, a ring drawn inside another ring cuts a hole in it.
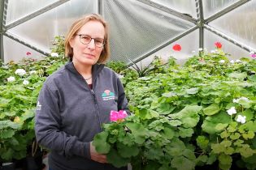
[{"label": "woman's chin-length blonde hair framing her face and glasses", "polygon": [[69,57],[71,61],[74,53],[69,41],[72,40],[74,36],[76,36],[76,32],[78,32],[80,28],[82,28],[85,25],[85,23],[88,23],[91,20],[99,21],[100,23],[102,23],[103,27],[105,28],[105,36],[104,36],[105,44],[103,46],[102,53],[98,58],[98,63],[105,63],[107,59],[110,57],[108,25],[101,15],[90,14],[90,15],[85,15],[81,19],[77,19],[72,24],[72,27],[69,29],[69,31],[67,32],[67,36],[65,39],[65,56]]}]

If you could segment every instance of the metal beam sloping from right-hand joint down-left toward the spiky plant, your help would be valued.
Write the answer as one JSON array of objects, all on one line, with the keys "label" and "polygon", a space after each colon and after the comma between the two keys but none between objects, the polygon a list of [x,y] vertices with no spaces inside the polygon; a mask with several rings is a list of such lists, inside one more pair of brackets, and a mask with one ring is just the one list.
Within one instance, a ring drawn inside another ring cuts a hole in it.
[{"label": "metal beam sloping from right-hand joint down-left toward the spiky plant", "polygon": [[190,28],[189,30],[187,30],[186,32],[181,33],[179,36],[176,36],[174,38],[172,38],[171,40],[168,40],[166,43],[164,43],[163,45],[158,46],[156,49],[150,51],[149,53],[145,53],[144,55],[142,55],[141,57],[138,57],[137,60],[133,61],[133,62],[140,62],[141,60],[143,60],[145,57],[149,57],[150,55],[152,55],[153,53],[157,52],[160,49],[163,49],[164,47],[166,47],[167,45],[170,45],[171,43],[175,42],[176,40],[179,40],[180,38],[188,35],[190,32],[193,32],[194,30],[196,30],[198,28],[198,26],[194,26],[193,28]]}]

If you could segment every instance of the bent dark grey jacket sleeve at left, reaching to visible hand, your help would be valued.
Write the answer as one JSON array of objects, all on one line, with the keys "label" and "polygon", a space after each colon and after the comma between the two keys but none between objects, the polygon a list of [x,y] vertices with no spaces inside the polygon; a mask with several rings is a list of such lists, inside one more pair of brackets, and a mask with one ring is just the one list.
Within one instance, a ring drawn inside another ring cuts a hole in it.
[{"label": "bent dark grey jacket sleeve at left, reaching to visible hand", "polygon": [[81,142],[76,136],[61,130],[59,108],[58,90],[50,90],[45,83],[37,100],[35,117],[37,142],[66,157],[79,155],[90,159],[89,142]]}]

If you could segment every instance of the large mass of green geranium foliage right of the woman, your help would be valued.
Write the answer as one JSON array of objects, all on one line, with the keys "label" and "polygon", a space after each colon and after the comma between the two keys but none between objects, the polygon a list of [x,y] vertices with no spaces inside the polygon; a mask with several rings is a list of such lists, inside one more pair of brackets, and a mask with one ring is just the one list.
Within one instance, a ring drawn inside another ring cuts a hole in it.
[{"label": "large mass of green geranium foliage right of the woman", "polygon": [[[255,69],[255,59],[231,62],[218,49],[129,82],[134,114],[104,125],[93,144],[116,167],[194,169],[218,162],[223,170],[255,169]],[[232,107],[236,113],[229,115]]]}]

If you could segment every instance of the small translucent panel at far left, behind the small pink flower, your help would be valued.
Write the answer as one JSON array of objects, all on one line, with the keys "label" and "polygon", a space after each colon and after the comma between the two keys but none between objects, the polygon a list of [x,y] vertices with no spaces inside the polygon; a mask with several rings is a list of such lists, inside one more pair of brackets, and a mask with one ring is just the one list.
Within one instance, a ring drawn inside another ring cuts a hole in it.
[{"label": "small translucent panel at far left, behind the small pink flower", "polygon": [[[21,45],[15,40],[11,40],[7,36],[3,36],[4,44],[4,62],[19,62],[24,57],[33,57],[35,59],[40,59],[44,57],[43,54],[34,51],[33,49],[28,48],[27,46]],[[31,53],[27,55],[27,52]]]}]

